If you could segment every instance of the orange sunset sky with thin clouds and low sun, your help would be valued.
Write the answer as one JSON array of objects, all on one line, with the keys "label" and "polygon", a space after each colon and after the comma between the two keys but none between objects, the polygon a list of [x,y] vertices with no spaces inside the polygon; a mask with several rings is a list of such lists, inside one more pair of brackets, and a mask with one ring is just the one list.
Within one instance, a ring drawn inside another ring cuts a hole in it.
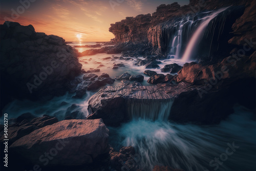
[{"label": "orange sunset sky with thin clouds and low sun", "polygon": [[[110,24],[127,16],[156,11],[177,0],[1,0],[0,23],[5,20],[33,25],[36,32],[66,41],[110,41]],[[178,3],[183,6],[188,0]]]}]

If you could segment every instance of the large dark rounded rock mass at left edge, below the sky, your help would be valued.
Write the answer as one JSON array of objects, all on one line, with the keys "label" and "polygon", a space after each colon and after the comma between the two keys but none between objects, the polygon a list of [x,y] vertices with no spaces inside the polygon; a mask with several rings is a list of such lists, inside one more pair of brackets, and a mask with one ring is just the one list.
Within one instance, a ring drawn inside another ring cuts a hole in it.
[{"label": "large dark rounded rock mass at left edge, below the sky", "polygon": [[79,75],[77,50],[33,26],[5,22],[1,27],[1,96],[8,99],[49,99],[65,94]]}]

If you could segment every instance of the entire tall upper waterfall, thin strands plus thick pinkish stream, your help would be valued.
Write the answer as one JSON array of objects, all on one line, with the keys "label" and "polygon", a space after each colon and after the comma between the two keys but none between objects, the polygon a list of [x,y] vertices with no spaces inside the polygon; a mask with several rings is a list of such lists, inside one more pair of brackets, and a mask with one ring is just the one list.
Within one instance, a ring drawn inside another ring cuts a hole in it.
[{"label": "entire tall upper waterfall, thin strands plus thick pinkish stream", "polygon": [[[229,10],[227,10],[229,9]],[[157,36],[158,38],[153,38],[154,44],[157,44],[156,40],[158,40],[158,46],[161,47],[161,53],[167,53],[168,58],[176,58],[182,59],[183,61],[188,61],[191,59],[195,59],[197,56],[196,52],[198,52],[198,45],[201,40],[204,39],[204,42],[200,44],[201,47],[204,47],[203,50],[200,49],[200,55],[209,57],[209,51],[211,49],[210,42],[212,39],[215,41],[219,40],[219,36],[223,34],[224,26],[227,25],[227,17],[231,13],[240,13],[242,9],[239,8],[221,8],[216,11],[203,11],[196,13],[194,15],[177,17],[172,19],[164,24],[161,24],[155,28],[155,35],[150,33],[150,35]],[[222,13],[224,12],[225,13]],[[220,13],[222,13],[220,15]],[[214,20],[220,16],[218,20]],[[232,18],[234,19],[234,18]],[[232,20],[229,18],[229,20]],[[212,22],[211,22],[212,21]],[[219,27],[218,30],[211,30],[211,28]],[[231,27],[230,24],[227,25]],[[226,33],[229,33],[229,28],[225,28]],[[218,33],[219,31],[219,33]],[[215,34],[219,34],[219,36],[214,38]],[[224,35],[224,37],[228,35]],[[227,40],[225,40],[227,41]],[[217,42],[217,45],[219,42]],[[215,47],[214,50],[218,50]],[[208,51],[208,53],[206,52]]]}]

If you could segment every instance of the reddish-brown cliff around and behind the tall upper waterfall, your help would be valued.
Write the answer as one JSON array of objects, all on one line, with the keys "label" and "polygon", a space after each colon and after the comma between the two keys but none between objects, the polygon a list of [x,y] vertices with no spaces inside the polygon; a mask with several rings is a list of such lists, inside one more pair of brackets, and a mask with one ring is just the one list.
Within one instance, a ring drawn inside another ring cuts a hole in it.
[{"label": "reddish-brown cliff around and behind the tall upper waterfall", "polygon": [[[256,22],[256,13],[253,11],[255,7],[254,1],[191,0],[188,5],[182,7],[178,3],[170,5],[162,4],[157,7],[152,15],[146,14],[136,17],[126,17],[121,22],[111,24],[109,30],[115,35],[116,44],[122,44],[123,42],[147,44],[152,49],[148,54],[168,55],[171,48],[169,47],[169,42],[172,41],[172,35],[178,31],[178,23],[182,18],[190,16],[194,20],[194,18],[204,15],[200,13],[201,11],[211,11],[229,6],[231,7],[228,11],[218,16],[214,22],[209,24],[206,34],[212,36],[206,36],[202,39],[202,43],[200,44],[201,49],[198,51],[198,56],[195,56],[195,59],[197,58],[198,60],[206,57],[213,58],[212,56],[215,56],[216,59],[216,56],[227,56],[233,48],[237,47],[233,45],[242,47],[245,44],[245,39],[250,40],[252,38],[252,41],[255,41],[255,34],[253,33]],[[216,26],[220,27],[220,25],[222,25],[222,29],[216,29],[214,31],[210,29]],[[197,27],[198,23],[194,22],[193,28]],[[184,32],[188,32],[187,29]],[[221,35],[221,39],[215,38],[216,36],[214,35]],[[184,33],[182,39],[182,41],[187,42],[189,37]],[[186,43],[180,45],[182,46],[181,52],[185,50],[185,45]],[[248,53],[247,55],[250,54]]]}]

